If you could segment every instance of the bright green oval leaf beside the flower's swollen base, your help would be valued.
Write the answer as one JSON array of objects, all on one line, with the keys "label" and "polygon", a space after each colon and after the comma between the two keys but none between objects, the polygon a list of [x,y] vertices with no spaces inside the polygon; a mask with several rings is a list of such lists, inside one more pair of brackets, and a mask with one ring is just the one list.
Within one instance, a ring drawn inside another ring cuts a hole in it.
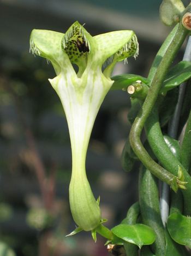
[{"label": "bright green oval leaf beside the flower's swollen base", "polygon": [[156,235],[151,227],[144,224],[120,224],[111,229],[111,231],[117,237],[126,242],[136,244],[139,248],[145,244],[152,244],[156,239]]}]

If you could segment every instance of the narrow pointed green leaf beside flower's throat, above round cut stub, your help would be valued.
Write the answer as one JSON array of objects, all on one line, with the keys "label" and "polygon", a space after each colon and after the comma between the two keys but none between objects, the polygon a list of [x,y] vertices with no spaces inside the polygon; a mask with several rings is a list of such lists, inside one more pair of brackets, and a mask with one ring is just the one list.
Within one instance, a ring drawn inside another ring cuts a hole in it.
[{"label": "narrow pointed green leaf beside flower's throat, above round cut stub", "polygon": [[148,84],[149,82],[147,78],[134,74],[117,75],[111,77],[111,79],[114,80],[111,90],[127,89],[127,87],[130,86],[130,84],[139,80],[145,84]]}]

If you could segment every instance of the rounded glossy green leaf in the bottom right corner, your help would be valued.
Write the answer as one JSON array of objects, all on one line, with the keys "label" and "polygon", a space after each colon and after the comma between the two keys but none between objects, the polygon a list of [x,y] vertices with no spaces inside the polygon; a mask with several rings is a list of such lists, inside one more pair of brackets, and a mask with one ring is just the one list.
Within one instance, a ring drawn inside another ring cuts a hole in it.
[{"label": "rounded glossy green leaf in the bottom right corner", "polygon": [[172,239],[191,248],[191,218],[172,213],[168,218],[168,231]]}]

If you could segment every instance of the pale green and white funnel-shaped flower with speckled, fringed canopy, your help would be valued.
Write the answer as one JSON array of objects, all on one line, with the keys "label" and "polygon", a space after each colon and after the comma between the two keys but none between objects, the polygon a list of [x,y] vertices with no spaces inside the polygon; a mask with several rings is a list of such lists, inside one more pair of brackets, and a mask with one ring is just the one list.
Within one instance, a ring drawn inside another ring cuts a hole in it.
[{"label": "pale green and white funnel-shaped flower with speckled, fringed canopy", "polygon": [[[68,122],[72,173],[70,209],[81,230],[95,230],[102,223],[99,205],[89,186],[85,161],[94,120],[112,86],[110,75],[116,62],[138,55],[138,41],[131,30],[92,37],[79,22],[64,33],[33,30],[30,49],[49,60],[56,77],[49,79],[61,99]],[[103,70],[104,63],[109,64]],[[76,73],[73,64],[79,68]]]}]

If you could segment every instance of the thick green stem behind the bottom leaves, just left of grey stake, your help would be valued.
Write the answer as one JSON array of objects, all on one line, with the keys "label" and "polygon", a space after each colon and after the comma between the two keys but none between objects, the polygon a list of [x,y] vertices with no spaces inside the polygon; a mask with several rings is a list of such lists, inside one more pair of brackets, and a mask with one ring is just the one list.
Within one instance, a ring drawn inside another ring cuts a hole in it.
[{"label": "thick green stem behind the bottom leaves, just left of grey stake", "polygon": [[156,232],[156,241],[152,248],[157,256],[165,255],[164,227],[160,217],[158,182],[144,166],[140,168],[139,203],[144,224]]}]

